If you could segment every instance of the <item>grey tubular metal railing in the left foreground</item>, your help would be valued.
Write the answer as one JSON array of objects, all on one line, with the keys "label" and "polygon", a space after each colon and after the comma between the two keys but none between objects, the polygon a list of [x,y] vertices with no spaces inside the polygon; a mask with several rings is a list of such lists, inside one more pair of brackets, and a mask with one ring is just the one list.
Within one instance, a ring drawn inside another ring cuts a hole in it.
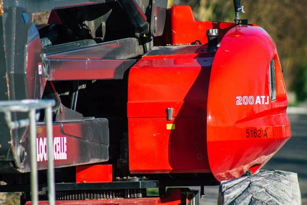
[{"label": "grey tubular metal railing in the left foreground", "polygon": [[[53,164],[53,129],[52,129],[52,107],[54,100],[50,99],[25,99],[0,101],[0,112],[5,114],[5,122],[10,129],[30,127],[30,167],[31,167],[31,201],[33,205],[38,204],[38,175],[36,160],[36,121],[39,114],[37,110],[45,109],[47,156],[48,156],[48,199],[49,204],[55,204],[54,164]],[[12,121],[12,113],[29,113],[29,119]]]}]

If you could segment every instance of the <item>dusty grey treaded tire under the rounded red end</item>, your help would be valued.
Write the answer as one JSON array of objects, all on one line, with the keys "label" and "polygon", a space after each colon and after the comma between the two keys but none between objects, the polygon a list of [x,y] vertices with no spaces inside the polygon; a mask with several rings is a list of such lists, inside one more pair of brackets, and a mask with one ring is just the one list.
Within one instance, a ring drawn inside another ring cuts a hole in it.
[{"label": "dusty grey treaded tire under the rounded red end", "polygon": [[252,176],[222,181],[218,204],[301,204],[297,174],[260,170]]}]

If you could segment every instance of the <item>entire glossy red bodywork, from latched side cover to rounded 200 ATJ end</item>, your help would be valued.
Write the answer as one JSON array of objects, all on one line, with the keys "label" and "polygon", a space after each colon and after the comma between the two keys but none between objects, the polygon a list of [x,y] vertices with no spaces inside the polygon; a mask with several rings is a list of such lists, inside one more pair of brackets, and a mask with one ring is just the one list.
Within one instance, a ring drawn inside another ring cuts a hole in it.
[{"label": "entire glossy red bodywork, from latched side cover to rounded 200 ATJ end", "polygon": [[[211,172],[219,181],[254,173],[291,136],[273,40],[256,25],[196,22],[189,7],[170,17],[172,45],[130,69],[130,172]],[[213,27],[220,47],[209,52]],[[203,45],[186,45],[194,40]]]}]

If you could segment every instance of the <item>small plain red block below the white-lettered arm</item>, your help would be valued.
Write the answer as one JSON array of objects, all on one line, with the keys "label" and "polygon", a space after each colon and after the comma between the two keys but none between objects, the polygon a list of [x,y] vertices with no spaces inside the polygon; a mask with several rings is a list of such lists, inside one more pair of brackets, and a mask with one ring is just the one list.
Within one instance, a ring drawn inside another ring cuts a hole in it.
[{"label": "small plain red block below the white-lettered arm", "polygon": [[76,182],[111,182],[112,165],[76,166]]}]

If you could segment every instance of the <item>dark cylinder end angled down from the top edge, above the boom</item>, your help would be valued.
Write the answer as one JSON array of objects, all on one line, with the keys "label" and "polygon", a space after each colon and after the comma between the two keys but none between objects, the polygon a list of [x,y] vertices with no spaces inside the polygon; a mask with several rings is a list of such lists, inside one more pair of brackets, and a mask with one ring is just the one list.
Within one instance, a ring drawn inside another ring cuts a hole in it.
[{"label": "dark cylinder end angled down from the top edge, above the boom", "polygon": [[142,28],[147,22],[147,18],[141,7],[135,0],[118,0],[121,7],[128,13],[128,16],[137,28]]}]

